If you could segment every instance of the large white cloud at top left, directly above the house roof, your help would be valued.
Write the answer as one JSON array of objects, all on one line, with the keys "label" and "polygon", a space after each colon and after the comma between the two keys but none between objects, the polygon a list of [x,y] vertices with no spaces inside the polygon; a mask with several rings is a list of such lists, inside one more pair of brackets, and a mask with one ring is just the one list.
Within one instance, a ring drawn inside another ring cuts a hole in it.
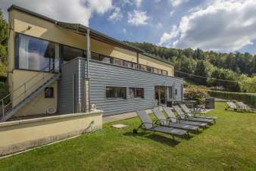
[{"label": "large white cloud at top left, directly above the house roof", "polygon": [[86,26],[94,12],[104,14],[112,8],[112,0],[1,0],[0,7],[4,10],[5,17],[7,8],[13,4],[56,20],[82,23]]}]

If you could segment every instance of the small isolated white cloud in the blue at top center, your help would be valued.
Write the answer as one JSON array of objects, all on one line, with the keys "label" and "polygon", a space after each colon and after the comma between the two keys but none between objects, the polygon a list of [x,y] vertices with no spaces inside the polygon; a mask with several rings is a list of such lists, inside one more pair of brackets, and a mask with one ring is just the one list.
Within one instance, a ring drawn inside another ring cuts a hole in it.
[{"label": "small isolated white cloud in the blue at top center", "polygon": [[148,24],[150,19],[145,11],[133,10],[133,12],[128,13],[128,23],[135,26]]}]

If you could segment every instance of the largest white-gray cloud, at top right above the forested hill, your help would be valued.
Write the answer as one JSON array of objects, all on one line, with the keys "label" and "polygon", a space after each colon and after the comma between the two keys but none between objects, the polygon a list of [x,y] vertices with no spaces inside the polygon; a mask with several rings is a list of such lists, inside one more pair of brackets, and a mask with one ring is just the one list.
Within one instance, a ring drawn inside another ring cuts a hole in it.
[{"label": "largest white-gray cloud, at top right above the forested hill", "polygon": [[183,16],[179,26],[164,33],[161,45],[236,51],[256,39],[256,1],[212,0]]}]

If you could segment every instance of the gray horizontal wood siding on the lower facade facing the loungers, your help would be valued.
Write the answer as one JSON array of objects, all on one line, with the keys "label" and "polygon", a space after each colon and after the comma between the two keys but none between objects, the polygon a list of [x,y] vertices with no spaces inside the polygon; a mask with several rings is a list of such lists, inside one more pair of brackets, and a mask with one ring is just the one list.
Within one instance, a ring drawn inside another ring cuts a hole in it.
[{"label": "gray horizontal wood siding on the lower facade facing the loungers", "polygon": [[[83,59],[79,61],[80,68],[83,69],[80,76],[83,76],[86,70],[86,61]],[[180,101],[182,96],[181,85],[183,79],[177,77],[117,67],[113,64],[102,64],[98,61],[89,63],[89,77],[91,104],[97,104],[98,109],[104,110],[104,115],[126,113],[153,107],[155,86],[174,86],[177,89],[177,95],[175,95],[175,89],[173,91],[176,101]],[[106,86],[126,87],[127,99],[106,99]],[[129,98],[129,87],[144,88],[144,98]],[[83,91],[81,93],[83,94]]]}]

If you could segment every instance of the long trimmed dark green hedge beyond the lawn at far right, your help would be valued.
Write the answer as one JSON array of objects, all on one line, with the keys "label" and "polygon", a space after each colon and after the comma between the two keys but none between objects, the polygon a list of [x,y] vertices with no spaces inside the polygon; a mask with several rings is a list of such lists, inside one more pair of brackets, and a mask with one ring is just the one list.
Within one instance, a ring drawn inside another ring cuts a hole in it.
[{"label": "long trimmed dark green hedge beyond the lawn at far right", "polygon": [[242,93],[242,92],[220,92],[208,90],[208,94],[214,98],[224,98],[229,100],[242,101],[256,107],[256,93]]}]

